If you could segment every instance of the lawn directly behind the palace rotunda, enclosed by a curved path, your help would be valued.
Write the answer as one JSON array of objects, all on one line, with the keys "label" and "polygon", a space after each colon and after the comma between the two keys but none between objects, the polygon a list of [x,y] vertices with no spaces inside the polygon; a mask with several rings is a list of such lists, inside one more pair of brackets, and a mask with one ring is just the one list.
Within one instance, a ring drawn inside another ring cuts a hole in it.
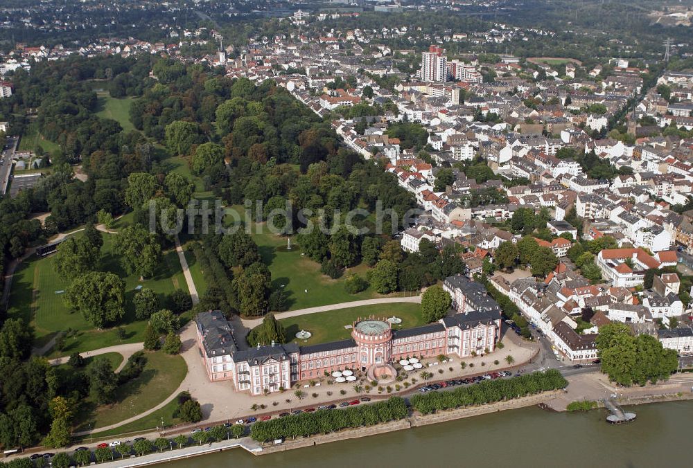
[{"label": "lawn directly behind the palace rotunda, enclosed by a curved path", "polygon": [[[358,318],[374,315],[376,318],[389,318],[397,316],[402,319],[399,325],[393,325],[393,330],[418,327],[425,325],[421,316],[421,305],[417,303],[392,303],[362,305],[360,307],[349,307],[348,309],[337,309],[328,312],[317,312],[315,314],[299,315],[296,317],[283,318],[279,321],[286,331],[287,338],[292,338],[299,345],[317,345],[348,339],[351,336],[351,328],[344,328],[351,325]],[[301,330],[310,332],[307,340],[295,338]]]}]

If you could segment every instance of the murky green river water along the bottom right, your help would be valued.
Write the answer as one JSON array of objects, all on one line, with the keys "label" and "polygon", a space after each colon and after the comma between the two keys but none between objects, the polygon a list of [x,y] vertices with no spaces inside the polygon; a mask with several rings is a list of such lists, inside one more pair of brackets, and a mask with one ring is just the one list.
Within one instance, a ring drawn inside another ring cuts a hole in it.
[{"label": "murky green river water along the bottom right", "polygon": [[243,449],[172,462],[198,467],[690,467],[693,402],[634,406],[638,419],[612,426],[605,410],[550,413],[537,407],[374,437],[254,456]]}]

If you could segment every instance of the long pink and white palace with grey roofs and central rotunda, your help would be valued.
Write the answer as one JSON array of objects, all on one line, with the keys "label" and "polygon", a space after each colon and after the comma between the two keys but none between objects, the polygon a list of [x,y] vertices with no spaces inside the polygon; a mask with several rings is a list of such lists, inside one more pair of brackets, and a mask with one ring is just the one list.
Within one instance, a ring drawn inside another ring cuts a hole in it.
[{"label": "long pink and white palace with grey roofs and central rotunda", "polygon": [[500,340],[500,307],[486,306],[404,330],[393,330],[387,319],[364,318],[353,323],[350,339],[308,346],[270,343],[240,349],[233,326],[220,311],[198,314],[195,325],[210,381],[231,380],[238,391],[263,395],[335,370],[362,370],[372,378],[407,357],[493,352]]}]

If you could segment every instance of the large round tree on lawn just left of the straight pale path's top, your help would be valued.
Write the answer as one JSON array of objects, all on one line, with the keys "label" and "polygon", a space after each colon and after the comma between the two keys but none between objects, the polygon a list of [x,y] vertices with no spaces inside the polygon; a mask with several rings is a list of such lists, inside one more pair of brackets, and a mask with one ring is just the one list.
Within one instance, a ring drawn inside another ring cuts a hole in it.
[{"label": "large round tree on lawn just left of the straight pale path's top", "polygon": [[139,273],[141,277],[154,275],[161,258],[161,244],[157,236],[139,224],[121,229],[116,236],[114,250],[121,257],[123,269]]}]

